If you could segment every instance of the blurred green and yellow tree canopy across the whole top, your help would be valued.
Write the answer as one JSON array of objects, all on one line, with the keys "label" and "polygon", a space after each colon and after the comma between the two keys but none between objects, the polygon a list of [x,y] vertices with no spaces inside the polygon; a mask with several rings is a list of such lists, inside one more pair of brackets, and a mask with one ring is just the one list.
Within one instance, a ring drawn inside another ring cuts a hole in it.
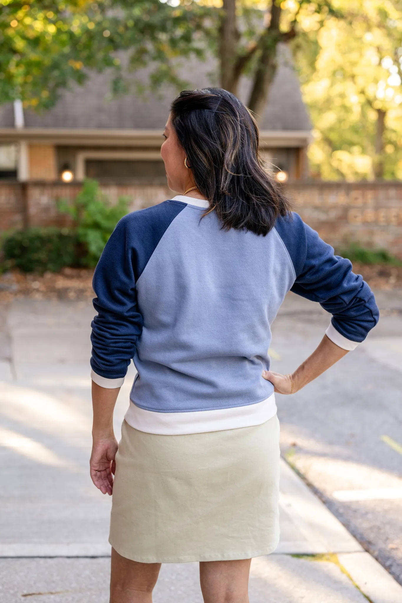
[{"label": "blurred green and yellow tree canopy across the whole top", "polygon": [[113,69],[112,93],[146,66],[149,89],[183,89],[180,63],[212,54],[222,87],[250,77],[258,118],[279,43],[315,127],[313,175],[402,178],[402,0],[0,0],[0,103],[46,109],[91,69]]}]

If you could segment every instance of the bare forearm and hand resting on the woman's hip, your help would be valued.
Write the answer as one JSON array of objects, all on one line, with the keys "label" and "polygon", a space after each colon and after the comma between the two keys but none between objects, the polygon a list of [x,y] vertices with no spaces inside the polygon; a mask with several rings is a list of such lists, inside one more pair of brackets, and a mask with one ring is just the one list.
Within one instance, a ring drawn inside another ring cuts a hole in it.
[{"label": "bare forearm and hand resting on the woman's hip", "polygon": [[277,394],[294,394],[343,358],[349,350],[337,346],[324,335],[311,356],[292,374],[283,375],[274,371],[264,371],[262,376],[271,381]]}]

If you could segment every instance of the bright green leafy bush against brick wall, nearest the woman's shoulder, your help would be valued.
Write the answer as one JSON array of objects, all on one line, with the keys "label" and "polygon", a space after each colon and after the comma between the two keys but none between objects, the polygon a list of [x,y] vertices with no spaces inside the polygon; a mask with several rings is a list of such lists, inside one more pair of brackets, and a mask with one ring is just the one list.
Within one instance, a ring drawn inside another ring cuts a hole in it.
[{"label": "bright green leafy bush against brick wall, nearest the woman's shoulder", "polygon": [[68,213],[74,221],[78,241],[84,250],[81,264],[93,268],[119,219],[126,215],[128,200],[120,197],[116,205],[111,205],[98,182],[87,179],[73,203],[62,200],[58,209]]}]

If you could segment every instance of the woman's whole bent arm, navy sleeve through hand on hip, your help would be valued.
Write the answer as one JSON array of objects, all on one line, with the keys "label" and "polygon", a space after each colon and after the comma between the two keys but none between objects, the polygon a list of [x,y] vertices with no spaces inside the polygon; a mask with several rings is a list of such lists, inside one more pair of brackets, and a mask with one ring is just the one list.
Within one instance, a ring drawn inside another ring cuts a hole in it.
[{"label": "woman's whole bent arm, navy sleeve through hand on hip", "polygon": [[351,262],[336,256],[297,213],[279,219],[275,230],[294,266],[291,291],[318,302],[332,315],[321,343],[294,373],[263,372],[275,391],[292,394],[354,350],[377,324],[379,312],[367,283],[353,274]]}]

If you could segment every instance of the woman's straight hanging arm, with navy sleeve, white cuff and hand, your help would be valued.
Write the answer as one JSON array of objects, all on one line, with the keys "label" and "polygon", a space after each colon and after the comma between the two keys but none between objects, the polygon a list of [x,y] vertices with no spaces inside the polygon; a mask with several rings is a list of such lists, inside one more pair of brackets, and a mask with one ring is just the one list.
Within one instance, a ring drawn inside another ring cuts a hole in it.
[{"label": "woman's straight hanging arm, with navy sleeve, white cuff and hand", "polygon": [[[93,275],[97,296],[93,306],[98,315],[92,321],[91,335],[91,475],[94,471],[93,481],[104,493],[111,493],[117,451],[112,428],[113,408],[143,327],[137,282],[166,229],[184,207],[184,203],[165,202],[124,216],[105,245]],[[103,471],[107,473],[102,473],[99,481],[99,473]]]}]

